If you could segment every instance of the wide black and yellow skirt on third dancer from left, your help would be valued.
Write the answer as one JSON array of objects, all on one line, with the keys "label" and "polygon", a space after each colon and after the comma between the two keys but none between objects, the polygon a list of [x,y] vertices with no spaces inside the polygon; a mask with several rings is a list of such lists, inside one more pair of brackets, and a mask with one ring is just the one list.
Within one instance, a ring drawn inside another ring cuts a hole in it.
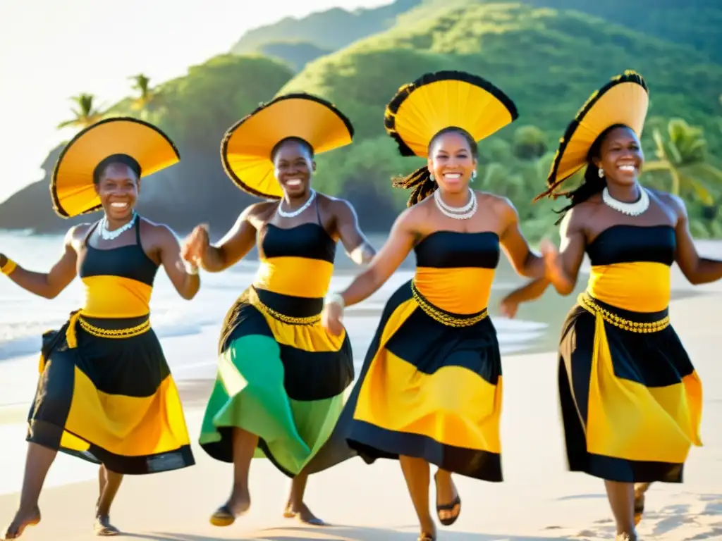
[{"label": "wide black and yellow skirt on third dancer from left", "polygon": [[501,408],[501,356],[486,309],[451,314],[409,281],[383,310],[331,441],[345,439],[369,464],[404,455],[500,482]]}]

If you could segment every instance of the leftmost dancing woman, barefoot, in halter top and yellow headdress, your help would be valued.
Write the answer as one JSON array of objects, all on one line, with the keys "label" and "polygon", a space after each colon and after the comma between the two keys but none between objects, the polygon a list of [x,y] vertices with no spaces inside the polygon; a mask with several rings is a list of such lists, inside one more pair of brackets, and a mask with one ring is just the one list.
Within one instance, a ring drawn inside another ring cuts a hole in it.
[{"label": "leftmost dancing woman, barefoot, in halter top and yellow headdress", "polygon": [[25,478],[6,539],[40,522],[38,497],[58,451],[100,464],[97,535],[119,533],[110,524],[110,505],[123,475],[195,463],[178,390],[150,326],[149,302],[160,265],[183,299],[199,289],[198,268],[183,264],[167,226],[134,210],[141,177],[179,159],[164,133],[134,118],[84,129],[58,159],[53,206],[65,218],[102,209],[103,219],[71,227],[48,273],[27,271],[0,255],[2,273],[30,293],[53,299],[76,275],[85,289],[82,309],[43,335]]}]

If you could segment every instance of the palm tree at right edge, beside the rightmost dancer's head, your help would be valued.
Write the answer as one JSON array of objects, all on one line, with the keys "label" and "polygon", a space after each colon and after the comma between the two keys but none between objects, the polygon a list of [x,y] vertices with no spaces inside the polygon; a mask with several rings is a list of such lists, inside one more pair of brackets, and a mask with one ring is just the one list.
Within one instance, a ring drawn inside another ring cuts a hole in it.
[{"label": "palm tree at right edge, beside the rightmost dancer's head", "polygon": [[667,136],[655,128],[652,133],[657,159],[645,162],[645,172],[664,171],[671,177],[671,193],[692,190],[705,205],[712,205],[713,195],[707,182],[722,182],[722,171],[706,162],[705,140],[702,128],[690,126],[682,118],[667,123]]}]

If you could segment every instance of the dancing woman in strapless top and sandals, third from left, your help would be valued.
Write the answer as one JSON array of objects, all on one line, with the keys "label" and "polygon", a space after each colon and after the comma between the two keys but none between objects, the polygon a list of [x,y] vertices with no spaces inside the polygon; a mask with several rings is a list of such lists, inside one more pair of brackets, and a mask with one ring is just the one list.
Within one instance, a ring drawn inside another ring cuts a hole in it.
[{"label": "dancing woman in strapless top and sandals, third from left", "polygon": [[516,118],[513,102],[474,75],[441,71],[401,87],[386,129],[402,155],[427,164],[394,181],[412,189],[411,208],[367,270],[324,307],[323,324],[340,333],[344,307],[378,290],[414,250],[415,276],[383,310],[338,431],[366,462],[400,459],[420,541],[436,538],[430,463],[438,466],[436,508],[445,525],[461,511],[452,472],[502,480],[502,374],[487,302],[500,246],[523,276],[544,276],[545,264],[529,250],[511,203],[469,182],[477,141]]}]

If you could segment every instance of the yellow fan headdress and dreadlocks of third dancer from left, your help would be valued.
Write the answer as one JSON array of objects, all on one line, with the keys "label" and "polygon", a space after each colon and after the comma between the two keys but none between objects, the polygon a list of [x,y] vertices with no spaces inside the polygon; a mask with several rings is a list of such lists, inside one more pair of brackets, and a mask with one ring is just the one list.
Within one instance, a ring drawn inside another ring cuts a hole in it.
[{"label": "yellow fan headdress and dreadlocks of third dancer from left", "polygon": [[[461,128],[478,142],[517,118],[514,102],[486,79],[464,71],[438,71],[396,92],[386,107],[384,126],[401,156],[427,157],[432,139],[444,129]],[[436,189],[426,166],[395,178],[393,185],[414,188],[408,206]]]}]

